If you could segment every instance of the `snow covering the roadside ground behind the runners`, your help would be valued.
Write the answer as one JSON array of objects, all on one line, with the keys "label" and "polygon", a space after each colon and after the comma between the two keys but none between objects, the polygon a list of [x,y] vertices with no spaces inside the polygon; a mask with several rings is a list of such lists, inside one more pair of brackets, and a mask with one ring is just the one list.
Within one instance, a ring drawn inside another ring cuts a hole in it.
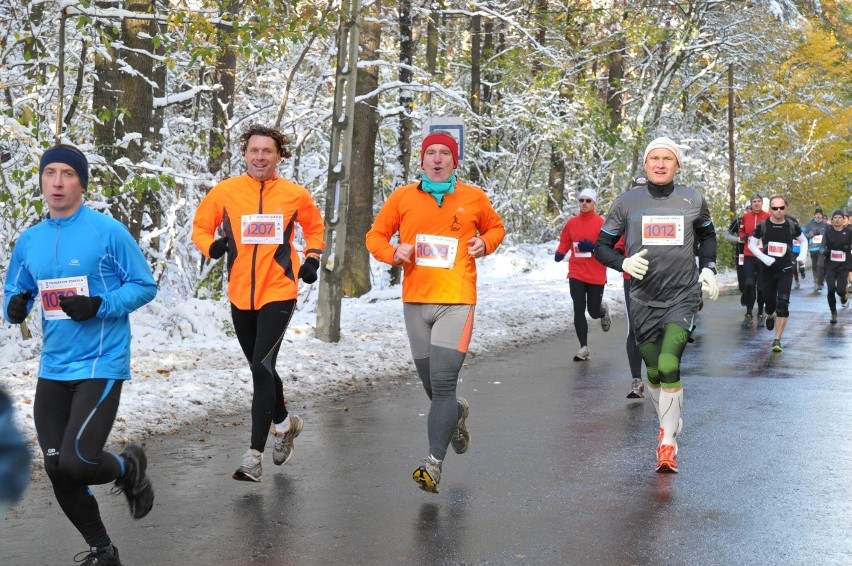
[{"label": "snow covering the roadside ground behind the runners", "polygon": [[[472,357],[569,332],[573,306],[567,262],[555,263],[558,242],[513,247],[477,261],[479,292]],[[375,265],[374,289],[344,299],[340,341],[315,337],[317,287],[291,320],[278,356],[288,403],[358,389],[383,380],[416,379],[402,318],[401,289],[383,280]],[[736,285],[733,271],[719,276]],[[626,332],[621,274],[608,270],[604,299],[616,318],[613,332]],[[28,319],[34,338],[22,340],[18,326],[0,327],[0,384],[11,395],[16,420],[40,462],[32,403],[41,348],[40,315]],[[132,380],[125,383],[110,443],[166,434],[213,415],[241,414],[251,406],[251,372],[234,336],[227,301],[155,299],[131,315]],[[595,326],[590,326],[594,352]],[[579,348],[568,340],[569,350]],[[625,371],[626,362],[625,362]]]}]

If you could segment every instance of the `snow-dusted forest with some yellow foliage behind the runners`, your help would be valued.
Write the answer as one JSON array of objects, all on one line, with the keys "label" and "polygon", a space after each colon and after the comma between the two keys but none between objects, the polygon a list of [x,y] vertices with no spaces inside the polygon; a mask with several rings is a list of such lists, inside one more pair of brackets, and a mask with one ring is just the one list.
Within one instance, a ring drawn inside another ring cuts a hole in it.
[{"label": "snow-dusted forest with some yellow foliage behind the runners", "polygon": [[[0,273],[43,216],[38,161],[61,140],[88,155],[87,203],[130,227],[161,300],[221,297],[223,262],[192,245],[192,215],[244,171],[246,126],[291,138],[279,172],[325,209],[347,4],[0,0]],[[803,223],[852,207],[848,2],[360,4],[346,296],[377,283],[364,234],[418,176],[430,118],[464,120],[460,176],[513,243],[557,237],[583,188],[605,212],[658,135],[683,146],[679,180],[706,194],[719,230],[754,192],[787,195]]]}]

